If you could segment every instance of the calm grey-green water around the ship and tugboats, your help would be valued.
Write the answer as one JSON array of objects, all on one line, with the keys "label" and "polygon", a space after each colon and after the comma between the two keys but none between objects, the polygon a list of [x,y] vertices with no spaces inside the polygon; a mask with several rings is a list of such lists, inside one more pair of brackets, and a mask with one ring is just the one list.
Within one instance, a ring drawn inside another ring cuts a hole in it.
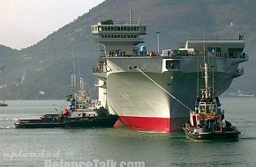
[{"label": "calm grey-green water around the ship and tugboats", "polygon": [[242,133],[237,142],[190,142],[184,133],[124,128],[15,129],[15,120],[60,112],[66,103],[8,101],[8,107],[0,107],[0,166],[108,166],[103,165],[108,161],[131,167],[135,162],[147,167],[255,166],[256,98],[222,98],[221,102],[226,120]]}]

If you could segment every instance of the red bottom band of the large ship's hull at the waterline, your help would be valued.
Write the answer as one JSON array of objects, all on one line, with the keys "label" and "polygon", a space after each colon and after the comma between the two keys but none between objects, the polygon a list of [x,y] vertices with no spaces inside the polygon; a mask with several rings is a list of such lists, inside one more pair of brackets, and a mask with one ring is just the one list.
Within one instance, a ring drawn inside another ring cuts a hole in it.
[{"label": "red bottom band of the large ship's hull at the waterline", "polygon": [[119,116],[115,127],[132,127],[144,131],[173,133],[181,131],[187,120],[189,120],[187,117],[154,118]]}]

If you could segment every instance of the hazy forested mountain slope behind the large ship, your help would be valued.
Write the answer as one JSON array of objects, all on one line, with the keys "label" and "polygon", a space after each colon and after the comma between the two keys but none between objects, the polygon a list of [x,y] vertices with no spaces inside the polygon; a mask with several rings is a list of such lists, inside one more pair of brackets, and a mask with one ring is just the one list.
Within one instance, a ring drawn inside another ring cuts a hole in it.
[{"label": "hazy forested mountain slope behind the large ship", "polygon": [[[70,90],[73,60],[76,73],[87,81],[87,90],[96,95],[92,68],[99,57],[90,26],[112,18],[132,20],[147,25],[146,45],[156,50],[156,32],[160,48],[176,48],[188,38],[238,38],[243,34],[250,61],[242,64],[245,75],[235,79],[230,90],[256,93],[253,75],[256,58],[254,10],[251,0],[106,0],[54,33],[22,50],[0,46],[0,61],[5,65],[7,98],[64,98]],[[44,94],[40,93],[43,91]]]}]

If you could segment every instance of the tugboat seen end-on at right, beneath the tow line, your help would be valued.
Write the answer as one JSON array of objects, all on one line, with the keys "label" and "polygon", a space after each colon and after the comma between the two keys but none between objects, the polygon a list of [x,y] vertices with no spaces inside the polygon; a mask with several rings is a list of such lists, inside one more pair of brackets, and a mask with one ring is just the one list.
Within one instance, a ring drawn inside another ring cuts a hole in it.
[{"label": "tugboat seen end-on at right, beneath the tow line", "polygon": [[[218,97],[214,97],[209,87],[209,67],[204,63],[205,88],[201,89],[201,98],[197,98],[195,111],[190,112],[190,120],[184,125],[189,140],[237,140],[237,127],[225,120],[224,110]],[[214,87],[214,86],[213,86]]]}]

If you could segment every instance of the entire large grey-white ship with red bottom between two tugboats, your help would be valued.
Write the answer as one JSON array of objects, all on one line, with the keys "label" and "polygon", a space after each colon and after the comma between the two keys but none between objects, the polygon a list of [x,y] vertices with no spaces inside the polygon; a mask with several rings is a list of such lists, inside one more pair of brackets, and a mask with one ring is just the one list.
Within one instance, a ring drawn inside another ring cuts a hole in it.
[{"label": "entire large grey-white ship with red bottom between two tugboats", "polygon": [[204,82],[198,80],[200,67],[205,62],[211,67],[215,96],[219,96],[244,74],[239,64],[248,60],[242,35],[189,39],[175,49],[153,52],[144,45],[147,25],[139,22],[109,19],[92,25],[91,31],[100,44],[93,68],[98,100],[118,115],[116,126],[121,127],[164,133],[182,130],[197,87]]}]

